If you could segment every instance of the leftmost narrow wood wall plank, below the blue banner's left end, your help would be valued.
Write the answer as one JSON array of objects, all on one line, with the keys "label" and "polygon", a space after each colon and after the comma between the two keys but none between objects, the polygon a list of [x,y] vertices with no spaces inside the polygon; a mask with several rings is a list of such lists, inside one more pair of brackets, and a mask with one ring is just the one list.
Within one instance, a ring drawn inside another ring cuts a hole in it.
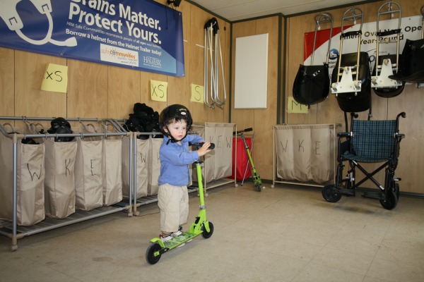
[{"label": "leftmost narrow wood wall plank, below the blue banner's left end", "polygon": [[15,115],[15,51],[0,47],[0,116]]}]

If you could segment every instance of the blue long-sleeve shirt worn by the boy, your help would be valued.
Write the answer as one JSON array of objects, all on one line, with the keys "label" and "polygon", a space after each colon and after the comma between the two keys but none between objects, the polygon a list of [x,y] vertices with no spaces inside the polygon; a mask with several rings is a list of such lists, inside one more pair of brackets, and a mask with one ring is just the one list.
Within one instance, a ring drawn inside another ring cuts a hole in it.
[{"label": "blue long-sleeve shirt worn by the boy", "polygon": [[199,159],[197,151],[189,152],[189,142],[204,142],[199,135],[187,135],[178,143],[169,142],[167,136],[163,136],[163,144],[160,146],[160,176],[158,184],[168,183],[174,186],[189,184],[189,164]]}]

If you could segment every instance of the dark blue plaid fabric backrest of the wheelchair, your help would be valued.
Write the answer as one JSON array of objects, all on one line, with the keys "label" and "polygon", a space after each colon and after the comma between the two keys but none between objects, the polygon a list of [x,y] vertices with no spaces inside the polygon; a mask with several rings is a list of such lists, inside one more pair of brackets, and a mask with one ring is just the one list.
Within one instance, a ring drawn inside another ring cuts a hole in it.
[{"label": "dark blue plaid fabric backrest of the wheelchair", "polygon": [[351,152],[344,159],[379,162],[394,158],[396,121],[353,121]]}]

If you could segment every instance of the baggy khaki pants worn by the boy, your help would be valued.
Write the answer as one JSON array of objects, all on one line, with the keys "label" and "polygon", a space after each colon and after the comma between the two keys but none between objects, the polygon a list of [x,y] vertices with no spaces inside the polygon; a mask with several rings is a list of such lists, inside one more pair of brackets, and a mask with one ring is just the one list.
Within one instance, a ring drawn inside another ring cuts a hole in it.
[{"label": "baggy khaki pants worn by the boy", "polygon": [[159,186],[158,206],[160,209],[160,230],[176,232],[187,223],[189,216],[189,192],[187,186]]}]

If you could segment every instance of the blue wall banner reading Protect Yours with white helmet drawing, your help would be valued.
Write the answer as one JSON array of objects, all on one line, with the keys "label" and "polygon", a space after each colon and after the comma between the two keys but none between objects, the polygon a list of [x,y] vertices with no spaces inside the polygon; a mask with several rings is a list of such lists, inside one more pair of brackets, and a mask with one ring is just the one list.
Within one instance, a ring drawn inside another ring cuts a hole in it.
[{"label": "blue wall banner reading Protect Yours with white helmet drawing", "polygon": [[0,46],[184,76],[182,14],[152,0],[0,0]]}]

